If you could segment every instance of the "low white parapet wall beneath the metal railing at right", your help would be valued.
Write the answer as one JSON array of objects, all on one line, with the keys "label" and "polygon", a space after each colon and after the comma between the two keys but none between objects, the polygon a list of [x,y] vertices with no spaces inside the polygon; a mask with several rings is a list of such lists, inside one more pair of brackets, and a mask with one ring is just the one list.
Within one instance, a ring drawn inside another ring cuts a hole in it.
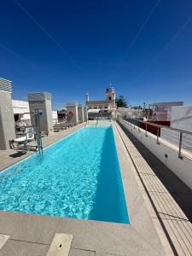
[{"label": "low white parapet wall beneath the metal railing at right", "polygon": [[[137,137],[137,140],[143,143],[161,162],[163,162],[177,177],[179,177],[183,183],[192,189],[192,158],[183,155],[183,160],[178,158],[178,151],[176,148],[171,148],[168,144],[160,141],[160,144],[156,141],[156,136],[148,132],[148,137],[145,136],[145,131],[138,127],[133,128],[133,125],[127,125],[125,120],[119,119],[119,122],[131,131],[131,133]],[[167,154],[167,158],[165,157]]]}]

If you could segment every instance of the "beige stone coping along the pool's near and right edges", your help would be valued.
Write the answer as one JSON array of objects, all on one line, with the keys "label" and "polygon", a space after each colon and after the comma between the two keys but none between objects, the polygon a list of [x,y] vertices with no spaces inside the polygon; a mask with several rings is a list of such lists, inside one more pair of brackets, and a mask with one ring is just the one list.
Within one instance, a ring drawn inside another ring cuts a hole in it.
[{"label": "beige stone coping along the pool's near and right edges", "polygon": [[114,123],[112,126],[130,224],[0,212],[0,233],[10,236],[7,246],[27,242],[48,251],[55,233],[64,232],[73,234],[73,249],[117,255],[165,254],[134,177],[134,166]]}]

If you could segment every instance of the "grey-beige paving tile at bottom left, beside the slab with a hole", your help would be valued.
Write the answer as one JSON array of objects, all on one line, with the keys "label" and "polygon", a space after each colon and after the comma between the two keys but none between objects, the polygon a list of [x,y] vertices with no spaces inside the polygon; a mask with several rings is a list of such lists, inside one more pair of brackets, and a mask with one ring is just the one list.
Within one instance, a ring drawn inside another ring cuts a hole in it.
[{"label": "grey-beige paving tile at bottom left, beside the slab with a hole", "polygon": [[0,249],[1,256],[46,256],[49,246],[44,244],[9,240]]}]

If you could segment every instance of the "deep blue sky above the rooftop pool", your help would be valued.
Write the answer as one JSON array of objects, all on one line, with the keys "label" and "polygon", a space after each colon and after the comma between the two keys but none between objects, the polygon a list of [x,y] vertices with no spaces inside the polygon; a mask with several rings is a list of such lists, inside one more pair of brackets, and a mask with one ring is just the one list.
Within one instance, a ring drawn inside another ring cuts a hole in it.
[{"label": "deep blue sky above the rooftop pool", "polygon": [[53,108],[102,99],[109,82],[131,105],[189,105],[190,17],[191,0],[1,1],[0,77],[15,99],[50,92]]}]

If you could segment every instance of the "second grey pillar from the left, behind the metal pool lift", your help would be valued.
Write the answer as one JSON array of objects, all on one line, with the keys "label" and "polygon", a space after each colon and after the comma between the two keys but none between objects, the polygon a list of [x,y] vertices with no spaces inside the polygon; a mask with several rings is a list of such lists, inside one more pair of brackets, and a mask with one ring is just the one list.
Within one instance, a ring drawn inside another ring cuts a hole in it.
[{"label": "second grey pillar from the left, behind the metal pool lift", "polygon": [[27,94],[29,109],[31,113],[32,126],[35,126],[35,120],[32,113],[39,111],[39,122],[41,131],[49,135],[53,131],[51,94],[48,92],[37,92]]}]

